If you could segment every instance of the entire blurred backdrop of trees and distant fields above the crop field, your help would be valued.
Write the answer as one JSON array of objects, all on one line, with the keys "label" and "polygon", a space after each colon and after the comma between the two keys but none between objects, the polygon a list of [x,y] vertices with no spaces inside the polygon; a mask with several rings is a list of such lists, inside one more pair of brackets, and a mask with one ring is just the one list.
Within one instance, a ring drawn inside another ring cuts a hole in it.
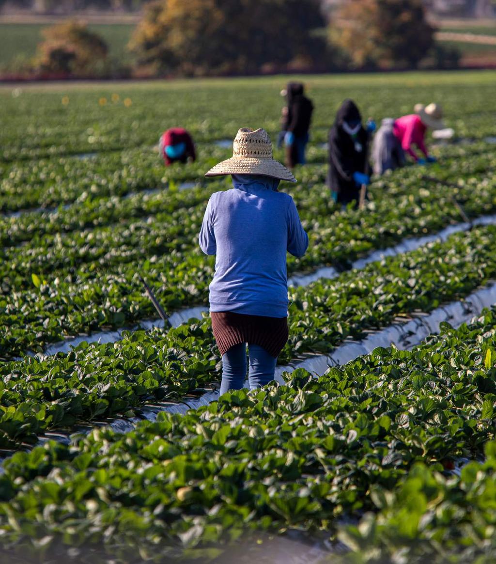
[{"label": "entire blurred backdrop of trees and distant fields above the crop field", "polygon": [[491,0],[0,0],[0,77],[487,67],[495,14]]}]

